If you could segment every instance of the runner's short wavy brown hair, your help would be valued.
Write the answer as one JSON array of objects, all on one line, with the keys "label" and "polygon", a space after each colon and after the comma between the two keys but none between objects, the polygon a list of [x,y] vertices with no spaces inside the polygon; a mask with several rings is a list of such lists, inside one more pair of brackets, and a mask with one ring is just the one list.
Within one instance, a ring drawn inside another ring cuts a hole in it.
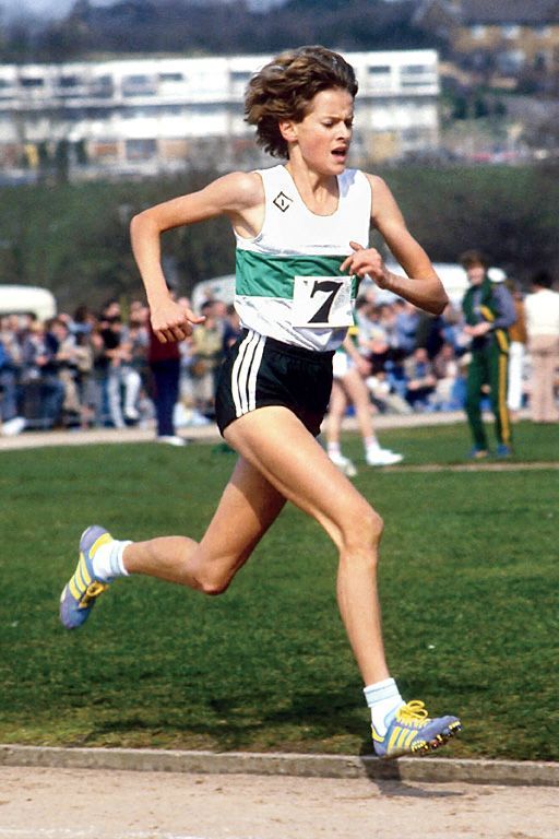
[{"label": "runner's short wavy brown hair", "polygon": [[272,59],[249,82],[245,119],[257,127],[257,142],[274,157],[287,157],[281,119],[300,121],[317,93],[341,87],[355,97],[354,69],[325,47],[299,47]]}]

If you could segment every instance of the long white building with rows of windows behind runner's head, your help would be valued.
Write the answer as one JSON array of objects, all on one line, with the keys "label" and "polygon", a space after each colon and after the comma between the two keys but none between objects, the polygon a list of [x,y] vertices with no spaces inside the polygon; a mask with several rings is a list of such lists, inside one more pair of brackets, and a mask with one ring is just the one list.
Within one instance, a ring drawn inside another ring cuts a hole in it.
[{"label": "long white building with rows of windows behind runner's head", "polygon": [[[437,52],[345,57],[359,82],[356,154],[383,159],[436,149]],[[61,144],[71,161],[87,159],[96,168],[164,169],[187,162],[201,168],[209,154],[227,168],[255,153],[242,98],[269,58],[0,64],[0,168],[17,166],[22,157],[35,167]]]}]

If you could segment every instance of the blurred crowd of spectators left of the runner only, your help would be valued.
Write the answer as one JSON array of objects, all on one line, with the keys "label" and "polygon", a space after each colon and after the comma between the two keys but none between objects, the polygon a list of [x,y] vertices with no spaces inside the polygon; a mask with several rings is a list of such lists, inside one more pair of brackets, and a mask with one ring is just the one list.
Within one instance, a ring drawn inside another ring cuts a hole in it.
[{"label": "blurred crowd of spectators left of the runner only", "polygon": [[[179,424],[211,422],[219,361],[238,331],[236,314],[204,303],[204,324],[180,344]],[[0,317],[0,433],[24,428],[147,426],[155,415],[148,309],[111,299],[47,321]]]}]

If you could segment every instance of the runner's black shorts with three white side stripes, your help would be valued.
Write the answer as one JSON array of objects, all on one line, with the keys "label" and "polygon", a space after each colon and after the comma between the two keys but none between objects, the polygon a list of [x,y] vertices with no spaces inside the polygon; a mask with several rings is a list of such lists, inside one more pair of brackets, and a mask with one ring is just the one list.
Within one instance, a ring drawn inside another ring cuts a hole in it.
[{"label": "runner's black shorts with three white side stripes", "polygon": [[243,330],[219,370],[219,432],[265,405],[284,405],[317,437],[332,390],[332,352],[313,352]]}]

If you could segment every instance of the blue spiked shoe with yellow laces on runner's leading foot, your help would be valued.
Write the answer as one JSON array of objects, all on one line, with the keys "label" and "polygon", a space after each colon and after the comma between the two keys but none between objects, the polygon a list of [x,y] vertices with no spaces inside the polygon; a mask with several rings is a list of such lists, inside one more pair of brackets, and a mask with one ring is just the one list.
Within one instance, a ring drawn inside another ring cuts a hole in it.
[{"label": "blue spiked shoe with yellow laces on runner's leading foot", "polygon": [[380,736],[373,725],[371,729],[377,757],[388,758],[433,752],[457,734],[462,723],[457,717],[431,720],[424,702],[414,699],[399,708],[384,736]]}]

